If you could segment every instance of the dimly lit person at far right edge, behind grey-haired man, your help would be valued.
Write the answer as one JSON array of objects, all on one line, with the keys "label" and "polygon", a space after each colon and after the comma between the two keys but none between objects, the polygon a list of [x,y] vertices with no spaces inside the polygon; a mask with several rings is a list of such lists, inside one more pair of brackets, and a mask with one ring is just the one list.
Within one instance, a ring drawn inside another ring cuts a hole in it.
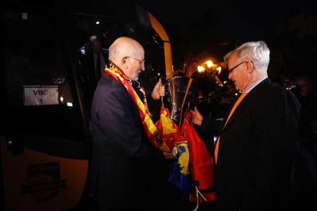
[{"label": "dimly lit person at far right edge, behind grey-haired man", "polygon": [[314,206],[317,192],[317,159],[315,151],[317,98],[311,92],[311,81],[306,76],[297,78],[296,88],[291,89],[300,105],[299,134],[296,144],[296,160],[293,166],[293,194],[300,207],[309,210]]}]

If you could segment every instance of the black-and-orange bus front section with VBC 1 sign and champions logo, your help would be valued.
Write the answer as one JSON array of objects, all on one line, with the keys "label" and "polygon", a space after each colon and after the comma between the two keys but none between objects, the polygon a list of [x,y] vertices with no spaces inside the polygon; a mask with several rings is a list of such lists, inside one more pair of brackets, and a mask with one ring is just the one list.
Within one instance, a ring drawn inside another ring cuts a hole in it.
[{"label": "black-and-orange bus front section with VBC 1 sign and champions logo", "polygon": [[76,207],[87,178],[87,126],[72,53],[58,16],[38,11],[2,13],[5,210]]}]

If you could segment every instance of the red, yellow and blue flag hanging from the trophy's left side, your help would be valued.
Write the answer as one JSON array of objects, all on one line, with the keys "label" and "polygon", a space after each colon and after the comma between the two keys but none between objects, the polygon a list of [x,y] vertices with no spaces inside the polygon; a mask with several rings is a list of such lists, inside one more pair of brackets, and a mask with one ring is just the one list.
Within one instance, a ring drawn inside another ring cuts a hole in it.
[{"label": "red, yellow and blue flag hanging from the trophy's left side", "polygon": [[168,180],[182,191],[194,188],[198,183],[197,181],[193,181],[190,173],[188,143],[186,139],[181,136],[177,125],[173,123],[168,116],[168,109],[162,106],[160,120],[155,124],[157,130],[163,135],[163,139],[166,142],[173,142],[178,151],[175,161],[171,164]]}]

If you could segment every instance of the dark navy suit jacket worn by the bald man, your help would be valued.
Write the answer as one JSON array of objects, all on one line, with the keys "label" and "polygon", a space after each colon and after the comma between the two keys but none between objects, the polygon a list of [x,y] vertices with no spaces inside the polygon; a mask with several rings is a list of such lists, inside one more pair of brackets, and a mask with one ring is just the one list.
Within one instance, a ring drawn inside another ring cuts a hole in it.
[{"label": "dark navy suit jacket worn by the bald man", "polygon": [[92,102],[91,192],[102,207],[144,203],[153,161],[163,153],[149,145],[138,108],[125,87],[103,74]]}]

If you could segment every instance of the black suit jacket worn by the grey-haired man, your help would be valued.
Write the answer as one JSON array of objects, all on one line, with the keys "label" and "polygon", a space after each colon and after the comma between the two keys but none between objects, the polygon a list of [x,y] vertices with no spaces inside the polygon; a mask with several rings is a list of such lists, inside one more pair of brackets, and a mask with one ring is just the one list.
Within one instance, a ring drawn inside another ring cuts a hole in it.
[{"label": "black suit jacket worn by the grey-haired man", "polygon": [[[228,114],[220,129],[227,118]],[[296,97],[268,78],[245,96],[220,132],[215,169],[218,210],[284,210],[298,119]],[[208,124],[203,119],[202,127]]]}]

